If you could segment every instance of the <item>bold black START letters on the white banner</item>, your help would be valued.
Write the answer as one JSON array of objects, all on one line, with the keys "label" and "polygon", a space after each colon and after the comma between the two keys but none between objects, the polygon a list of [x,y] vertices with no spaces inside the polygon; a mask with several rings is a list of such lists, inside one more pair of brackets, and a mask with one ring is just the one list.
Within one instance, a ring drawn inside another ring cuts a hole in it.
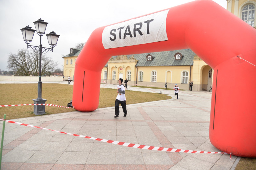
[{"label": "bold black START letters on the white banner", "polygon": [[[151,20],[147,20],[147,21],[144,21],[144,24],[146,23],[147,24],[147,34],[150,34],[150,31],[149,31],[149,25],[150,25],[150,22],[154,21],[154,19],[151,19]],[[139,22],[139,23],[135,23],[133,25],[133,36],[132,36],[132,32],[131,32],[131,29],[130,29],[130,25],[128,25],[126,28],[125,28],[125,31],[124,31],[124,34],[123,34],[123,39],[125,39],[126,36],[130,36],[131,38],[132,37],[136,37],[136,31],[140,34],[140,35],[143,35],[143,33],[141,32],[141,28],[142,28],[142,22]],[[122,39],[122,29],[124,29],[124,27],[120,27],[118,28],[117,30],[119,30],[119,39],[121,40]],[[116,40],[116,29],[112,29],[110,31],[110,35],[112,35],[113,37],[109,37],[111,41],[115,41]]]}]

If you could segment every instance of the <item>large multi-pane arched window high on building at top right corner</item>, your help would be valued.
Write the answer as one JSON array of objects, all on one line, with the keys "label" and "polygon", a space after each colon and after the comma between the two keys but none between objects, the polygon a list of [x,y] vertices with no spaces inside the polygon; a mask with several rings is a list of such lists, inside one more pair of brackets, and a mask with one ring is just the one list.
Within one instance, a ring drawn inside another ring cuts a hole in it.
[{"label": "large multi-pane arched window high on building at top right corner", "polygon": [[254,15],[255,6],[253,4],[247,4],[241,11],[241,19],[254,27]]}]

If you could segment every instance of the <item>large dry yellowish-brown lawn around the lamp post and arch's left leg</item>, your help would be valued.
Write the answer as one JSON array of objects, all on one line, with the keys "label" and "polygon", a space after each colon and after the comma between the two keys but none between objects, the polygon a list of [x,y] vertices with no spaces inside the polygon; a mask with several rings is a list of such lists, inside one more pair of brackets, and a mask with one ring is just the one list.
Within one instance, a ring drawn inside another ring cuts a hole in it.
[{"label": "large dry yellowish-brown lawn around the lamp post and arch's left leg", "polygon": [[[33,104],[37,98],[37,84],[0,84],[0,105]],[[73,86],[68,84],[43,84],[42,98],[46,103],[67,106],[72,100]],[[112,107],[115,104],[116,89],[100,88],[99,107]],[[164,94],[146,93],[141,91],[125,91],[126,104],[143,103],[148,101],[166,100],[172,97]],[[142,97],[143,96],[143,97]],[[17,119],[36,116],[34,106],[1,107],[0,119],[6,114],[6,119]],[[46,114],[72,112],[74,109],[46,106]]]}]

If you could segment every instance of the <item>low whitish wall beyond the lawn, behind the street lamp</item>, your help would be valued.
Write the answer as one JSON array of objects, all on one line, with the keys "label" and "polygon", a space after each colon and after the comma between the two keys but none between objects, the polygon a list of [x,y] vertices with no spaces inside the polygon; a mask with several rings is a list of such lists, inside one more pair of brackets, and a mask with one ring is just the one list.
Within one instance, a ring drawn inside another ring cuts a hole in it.
[{"label": "low whitish wall beyond the lawn, behind the street lamp", "polygon": [[[35,81],[39,80],[38,76],[10,76],[10,75],[0,75],[0,81]],[[43,76],[41,77],[41,81],[43,82],[60,82],[63,81],[62,76]]]}]

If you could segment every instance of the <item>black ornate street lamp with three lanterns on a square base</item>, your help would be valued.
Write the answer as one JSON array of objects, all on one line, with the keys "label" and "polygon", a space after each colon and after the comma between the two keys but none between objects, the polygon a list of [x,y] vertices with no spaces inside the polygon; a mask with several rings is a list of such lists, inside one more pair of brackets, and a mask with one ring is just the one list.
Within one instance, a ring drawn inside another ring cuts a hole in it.
[{"label": "black ornate street lamp with three lanterns on a square base", "polygon": [[[60,35],[57,35],[55,32],[50,32],[49,34],[46,34],[48,43],[51,48],[46,48],[42,47],[41,39],[42,35],[45,34],[46,26],[48,22],[44,22],[41,18],[35,22],[36,30],[31,29],[32,27],[29,27],[29,25],[25,28],[20,29],[22,31],[23,39],[25,43],[27,43],[27,48],[31,47],[35,52],[38,52],[39,50],[39,81],[37,85],[37,99],[32,99],[34,101],[34,104],[42,104],[46,102],[46,99],[42,98],[42,82],[41,82],[41,57],[42,53],[47,53],[49,50],[53,51],[53,48],[56,46],[58,38]],[[34,36],[34,33],[37,32],[37,34],[40,36],[40,45],[38,46],[33,46],[33,45],[28,45]],[[34,114],[35,115],[41,115],[45,114],[45,106],[38,106],[34,105]]]}]

